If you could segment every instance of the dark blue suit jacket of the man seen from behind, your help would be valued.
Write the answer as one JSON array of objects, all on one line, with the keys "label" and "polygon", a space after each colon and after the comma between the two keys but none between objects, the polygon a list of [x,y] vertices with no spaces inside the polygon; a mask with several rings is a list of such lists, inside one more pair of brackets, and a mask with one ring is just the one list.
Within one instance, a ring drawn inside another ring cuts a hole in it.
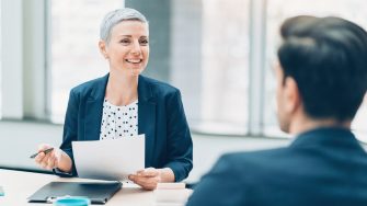
[{"label": "dark blue suit jacket of the man seen from behind", "polygon": [[222,156],[187,205],[366,206],[367,154],[349,130],[310,130],[288,148]]}]

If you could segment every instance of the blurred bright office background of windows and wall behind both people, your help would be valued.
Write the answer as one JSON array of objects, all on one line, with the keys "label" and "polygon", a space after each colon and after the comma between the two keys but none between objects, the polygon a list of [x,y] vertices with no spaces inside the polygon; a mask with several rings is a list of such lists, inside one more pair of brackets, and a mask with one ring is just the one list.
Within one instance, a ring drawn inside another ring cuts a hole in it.
[{"label": "blurred bright office background of windows and wall behind both people", "polygon": [[[367,28],[365,0],[1,0],[0,168],[46,172],[27,156],[60,144],[70,89],[108,72],[100,22],[123,7],[149,21],[144,75],[182,92],[194,138],[188,182],[222,152],[291,140],[277,127],[272,70],[285,19],[336,15]],[[353,122],[363,144],[365,100]]]}]

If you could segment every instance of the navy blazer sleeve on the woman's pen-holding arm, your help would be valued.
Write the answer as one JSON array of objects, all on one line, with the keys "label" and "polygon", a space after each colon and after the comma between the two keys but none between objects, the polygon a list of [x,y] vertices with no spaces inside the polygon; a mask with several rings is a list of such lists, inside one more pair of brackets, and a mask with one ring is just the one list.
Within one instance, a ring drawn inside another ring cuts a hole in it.
[{"label": "navy blazer sleeve on the woman's pen-holding arm", "polygon": [[62,144],[60,149],[64,150],[72,161],[72,168],[70,173],[64,173],[59,170],[54,170],[57,175],[60,176],[77,176],[76,164],[72,154],[72,147],[71,141],[77,140],[78,134],[78,114],[79,114],[79,100],[74,92],[74,90],[70,91],[69,94],[69,102],[68,107],[65,116],[65,124],[64,124],[64,135],[62,135]]}]

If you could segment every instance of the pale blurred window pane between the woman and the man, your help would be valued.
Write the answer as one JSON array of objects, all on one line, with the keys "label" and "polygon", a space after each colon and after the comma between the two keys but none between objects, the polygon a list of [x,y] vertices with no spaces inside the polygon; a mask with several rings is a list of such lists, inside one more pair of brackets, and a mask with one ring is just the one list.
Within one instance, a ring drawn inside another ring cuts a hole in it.
[{"label": "pale blurred window pane between the woman and the man", "polygon": [[202,2],[202,95],[195,127],[207,133],[245,134],[249,1]]}]

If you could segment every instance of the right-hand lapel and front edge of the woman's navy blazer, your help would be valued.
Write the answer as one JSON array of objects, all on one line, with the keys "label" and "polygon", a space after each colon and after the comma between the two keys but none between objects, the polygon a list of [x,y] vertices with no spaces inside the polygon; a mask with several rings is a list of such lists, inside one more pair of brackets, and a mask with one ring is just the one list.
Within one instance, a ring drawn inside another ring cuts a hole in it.
[{"label": "right-hand lapel and front edge of the woman's navy blazer", "polygon": [[146,78],[139,76],[138,82],[138,134],[146,135],[146,167],[152,162],[156,140],[156,102]]}]

